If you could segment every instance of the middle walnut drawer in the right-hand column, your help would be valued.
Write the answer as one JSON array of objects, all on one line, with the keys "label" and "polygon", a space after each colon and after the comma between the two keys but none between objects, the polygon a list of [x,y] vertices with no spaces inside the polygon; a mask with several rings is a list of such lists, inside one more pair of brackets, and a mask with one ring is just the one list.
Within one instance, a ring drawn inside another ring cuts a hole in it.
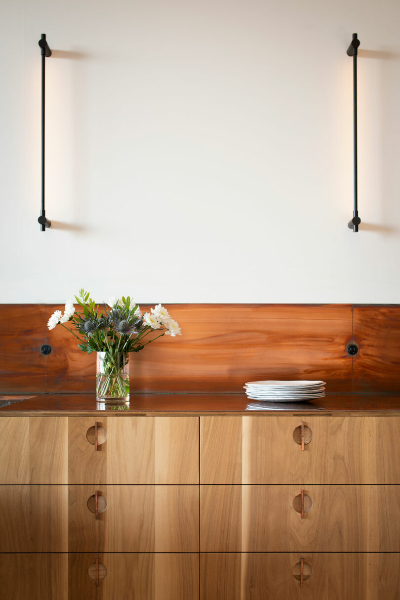
[{"label": "middle walnut drawer in the right-hand column", "polygon": [[201,485],[202,552],[399,552],[399,485]]}]

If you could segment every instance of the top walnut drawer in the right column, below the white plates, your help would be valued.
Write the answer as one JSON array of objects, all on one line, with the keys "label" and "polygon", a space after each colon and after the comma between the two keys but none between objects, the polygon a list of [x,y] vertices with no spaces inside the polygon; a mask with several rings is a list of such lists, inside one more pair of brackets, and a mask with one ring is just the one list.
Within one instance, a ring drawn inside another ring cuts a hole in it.
[{"label": "top walnut drawer in the right column, below the white plates", "polygon": [[203,484],[400,483],[396,416],[203,416],[200,431]]}]

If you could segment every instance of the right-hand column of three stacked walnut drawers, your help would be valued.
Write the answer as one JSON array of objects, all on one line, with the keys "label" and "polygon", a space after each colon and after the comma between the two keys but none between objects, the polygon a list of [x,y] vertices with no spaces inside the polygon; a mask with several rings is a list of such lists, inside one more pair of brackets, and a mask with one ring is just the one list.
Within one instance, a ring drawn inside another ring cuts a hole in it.
[{"label": "right-hand column of three stacked walnut drawers", "polygon": [[400,597],[400,417],[200,417],[202,600]]}]

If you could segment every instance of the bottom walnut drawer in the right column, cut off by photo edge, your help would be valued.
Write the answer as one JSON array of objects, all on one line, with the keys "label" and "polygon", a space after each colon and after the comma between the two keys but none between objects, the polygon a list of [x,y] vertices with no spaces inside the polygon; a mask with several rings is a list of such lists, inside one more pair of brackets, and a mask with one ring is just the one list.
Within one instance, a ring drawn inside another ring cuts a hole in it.
[{"label": "bottom walnut drawer in the right column, cut off by photo edge", "polygon": [[200,598],[396,600],[399,572],[392,553],[200,554]]}]

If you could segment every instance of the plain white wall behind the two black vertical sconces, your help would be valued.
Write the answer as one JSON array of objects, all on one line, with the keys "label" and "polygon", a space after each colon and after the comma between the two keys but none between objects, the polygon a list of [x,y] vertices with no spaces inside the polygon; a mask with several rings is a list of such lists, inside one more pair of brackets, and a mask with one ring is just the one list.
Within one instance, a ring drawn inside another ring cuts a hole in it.
[{"label": "plain white wall behind the two black vertical sconces", "polygon": [[399,2],[1,4],[0,302],[399,302]]}]

